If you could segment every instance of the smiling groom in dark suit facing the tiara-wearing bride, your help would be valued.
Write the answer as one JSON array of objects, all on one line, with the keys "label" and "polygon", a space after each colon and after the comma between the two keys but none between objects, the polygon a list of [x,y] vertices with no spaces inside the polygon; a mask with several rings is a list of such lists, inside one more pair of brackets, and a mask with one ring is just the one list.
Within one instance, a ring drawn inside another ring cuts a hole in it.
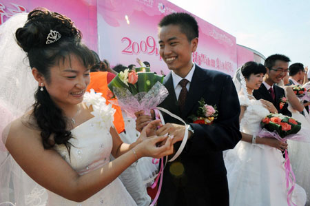
[{"label": "smiling groom in dark suit facing the tiara-wearing bride", "polygon": [[[198,45],[198,24],[194,17],[173,13],[158,26],[160,54],[171,70],[163,81],[169,96],[160,106],[190,125],[183,152],[165,166],[158,205],[229,205],[223,150],[234,148],[241,138],[240,105],[234,83],[231,76],[202,69],[192,62],[192,52]],[[189,119],[197,114],[200,99],[217,107],[218,117],[211,125]],[[143,112],[136,115],[136,129],[141,130],[151,118]],[[157,134],[173,135],[174,148],[178,150],[185,126],[167,114],[163,117],[166,124]]]}]

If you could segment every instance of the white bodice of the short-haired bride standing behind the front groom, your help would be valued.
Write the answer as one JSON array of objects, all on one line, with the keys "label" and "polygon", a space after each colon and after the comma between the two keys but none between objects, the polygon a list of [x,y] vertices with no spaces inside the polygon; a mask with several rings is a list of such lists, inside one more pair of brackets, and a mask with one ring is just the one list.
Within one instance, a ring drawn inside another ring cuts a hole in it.
[{"label": "white bodice of the short-haired bride standing behind the front groom", "polygon": [[270,112],[256,99],[246,99],[244,95],[239,96],[240,105],[246,107],[245,113],[240,121],[240,130],[247,134],[257,134],[260,131],[260,121]]}]

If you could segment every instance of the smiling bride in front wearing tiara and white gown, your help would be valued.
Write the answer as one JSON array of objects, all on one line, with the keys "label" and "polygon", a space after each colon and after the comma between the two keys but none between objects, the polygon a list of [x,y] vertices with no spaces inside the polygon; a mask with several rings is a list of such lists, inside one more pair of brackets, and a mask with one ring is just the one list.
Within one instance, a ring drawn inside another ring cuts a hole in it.
[{"label": "smiling bride in front wearing tiara and white gown", "polygon": [[67,17],[34,10],[16,39],[39,87],[32,110],[3,132],[10,154],[0,158],[0,204],[136,205],[117,177],[138,158],[172,154],[171,138],[156,147],[167,138],[154,136],[159,121],[149,123],[135,143],[121,141],[111,105],[85,93],[94,60]]}]

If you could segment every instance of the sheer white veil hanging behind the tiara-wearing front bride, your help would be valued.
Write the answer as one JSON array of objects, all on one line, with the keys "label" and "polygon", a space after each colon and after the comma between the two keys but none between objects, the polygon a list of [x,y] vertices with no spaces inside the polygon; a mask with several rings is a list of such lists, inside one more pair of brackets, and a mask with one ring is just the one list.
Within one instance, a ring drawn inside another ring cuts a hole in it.
[{"label": "sheer white veil hanging behind the tiara-wearing front bride", "polygon": [[16,14],[0,25],[0,206],[39,206],[45,205],[47,199],[46,190],[23,172],[4,146],[9,123],[30,109],[38,88],[27,55],[14,35],[25,24],[27,15]]}]

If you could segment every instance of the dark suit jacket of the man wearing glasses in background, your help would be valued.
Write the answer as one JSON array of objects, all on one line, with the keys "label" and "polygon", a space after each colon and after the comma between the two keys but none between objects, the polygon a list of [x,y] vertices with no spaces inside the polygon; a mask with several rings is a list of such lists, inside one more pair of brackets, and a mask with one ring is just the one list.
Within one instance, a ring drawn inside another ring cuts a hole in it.
[{"label": "dark suit jacket of the man wearing glasses in background", "polygon": [[273,91],[275,94],[274,101],[263,83],[260,85],[260,88],[258,90],[254,90],[253,95],[256,99],[265,99],[273,103],[273,105],[276,107],[279,113],[291,116],[291,112],[289,112],[289,110],[287,109],[288,104],[285,104],[282,110],[280,110],[280,98],[285,96],[285,90],[283,90],[281,87],[277,85],[273,85]]}]

